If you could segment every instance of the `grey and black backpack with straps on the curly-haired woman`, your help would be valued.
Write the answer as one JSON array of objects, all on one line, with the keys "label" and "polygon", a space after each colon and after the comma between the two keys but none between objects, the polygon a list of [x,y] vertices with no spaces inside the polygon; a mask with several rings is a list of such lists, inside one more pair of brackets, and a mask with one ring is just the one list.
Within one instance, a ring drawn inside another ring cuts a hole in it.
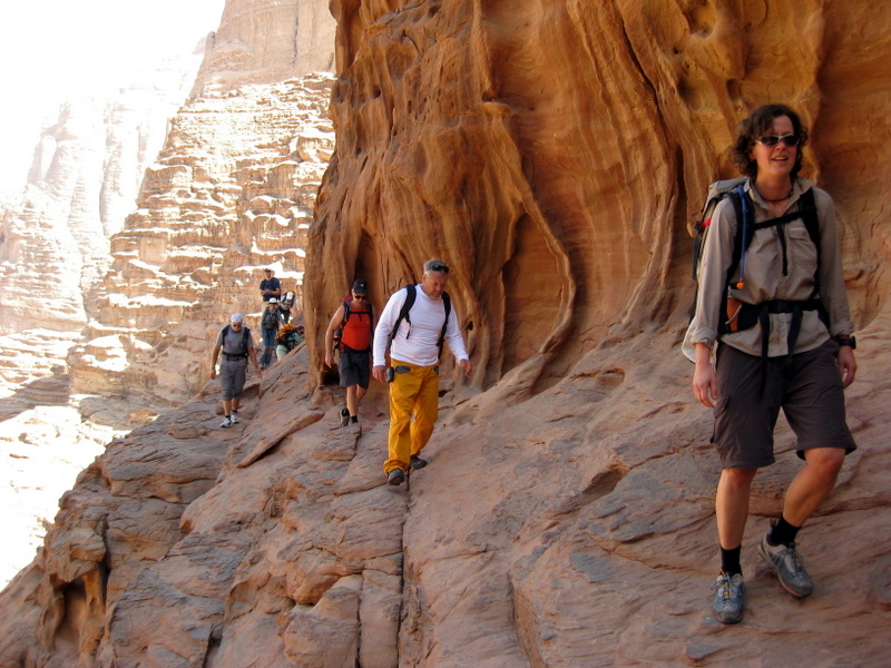
[{"label": "grey and black backpack with straps on the curly-haired woman", "polygon": [[[790,212],[762,223],[755,223],[753,203],[744,188],[746,180],[746,177],[733,178],[728,180],[715,181],[708,186],[708,191],[706,193],[705,204],[703,204],[702,213],[698,220],[696,220],[696,223],[693,225],[694,239],[692,278],[698,282],[699,263],[702,261],[705,239],[708,235],[708,229],[712,224],[712,215],[714,214],[718,203],[721,203],[725,197],[730,197],[731,203],[733,204],[734,213],[736,214],[737,224],[736,235],[733,243],[733,259],[727,267],[727,275],[725,279],[727,288],[735,287],[741,289],[745,285],[745,252],[747,250],[748,245],[752,243],[752,238],[755,236],[756,230],[764,229],[765,227],[779,227],[780,225],[785,225],[786,223],[791,223],[792,220],[801,218],[804,223],[804,227],[807,229],[807,235],[811,237],[811,242],[816,247],[816,272],[814,274],[814,291],[811,297],[812,299],[815,299],[820,294],[820,220],[817,218],[813,188],[809,188],[802,194],[801,198],[799,199],[800,206],[797,210]],[[785,244],[783,244],[783,274],[785,274],[787,272]],[[740,269],[740,281],[733,282],[733,276],[736,274],[737,268]],[[742,303],[728,305],[727,302],[728,294],[727,291],[724,291],[724,298],[721,306],[722,316],[718,318],[719,335],[745,330],[754,324],[752,314],[747,314],[748,317],[742,318],[742,321],[738,316],[742,314],[744,307],[747,307],[745,310],[751,312],[756,310],[757,305]],[[731,311],[733,311],[733,313],[731,313]],[[691,310],[691,318],[695,312],[696,297],[694,296],[693,308]],[[726,317],[724,314],[726,314]]]}]

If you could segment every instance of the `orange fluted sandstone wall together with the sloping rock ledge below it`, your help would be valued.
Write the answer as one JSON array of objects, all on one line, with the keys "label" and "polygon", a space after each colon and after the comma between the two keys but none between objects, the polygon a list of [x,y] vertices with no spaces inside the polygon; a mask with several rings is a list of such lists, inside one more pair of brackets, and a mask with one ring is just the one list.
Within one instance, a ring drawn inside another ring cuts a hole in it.
[{"label": "orange fluted sandstone wall together with the sloping rock ledge below it", "polygon": [[[885,666],[887,17],[861,0],[332,11],[315,343],[252,384],[248,423],[215,429],[208,385],[109,446],[0,595],[0,665]],[[781,426],[744,543],[748,611],[725,628],[711,421],[678,353],[686,223],[767,99],[803,111],[807,171],[836,199],[860,449],[802,532],[817,589],[795,601],[754,554],[799,465]],[[362,433],[335,429],[317,342],[353,276],[382,303],[433,255],[476,372],[447,377],[431,463],[392,490],[382,390]]]}]

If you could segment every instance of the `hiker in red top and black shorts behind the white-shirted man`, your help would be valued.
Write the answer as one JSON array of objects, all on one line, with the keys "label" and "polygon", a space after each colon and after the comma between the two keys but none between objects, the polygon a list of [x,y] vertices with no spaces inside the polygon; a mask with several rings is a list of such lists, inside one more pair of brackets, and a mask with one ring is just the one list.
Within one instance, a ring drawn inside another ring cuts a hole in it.
[{"label": "hiker in red top and black shorts behind the white-shirted man", "polygon": [[369,302],[369,282],[358,278],[350,295],[334,312],[325,332],[325,364],[329,369],[334,366],[336,347],[341,387],[346,389],[346,407],[341,410],[341,426],[359,422],[359,402],[365,396],[371,379],[373,334],[374,314]]}]

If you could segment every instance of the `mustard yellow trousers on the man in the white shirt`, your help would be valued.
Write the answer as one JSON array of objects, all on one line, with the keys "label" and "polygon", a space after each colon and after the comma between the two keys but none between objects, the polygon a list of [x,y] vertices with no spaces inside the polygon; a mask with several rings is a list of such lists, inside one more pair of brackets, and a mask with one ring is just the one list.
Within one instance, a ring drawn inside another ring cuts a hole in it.
[{"label": "mustard yellow trousers on the man in the white shirt", "polygon": [[[408,366],[390,383],[389,459],[384,473],[393,469],[409,470],[412,454],[418,454],[430,440],[439,416],[439,373],[437,366],[415,366],[398,360],[392,366]],[[412,420],[412,415],[414,420]]]}]

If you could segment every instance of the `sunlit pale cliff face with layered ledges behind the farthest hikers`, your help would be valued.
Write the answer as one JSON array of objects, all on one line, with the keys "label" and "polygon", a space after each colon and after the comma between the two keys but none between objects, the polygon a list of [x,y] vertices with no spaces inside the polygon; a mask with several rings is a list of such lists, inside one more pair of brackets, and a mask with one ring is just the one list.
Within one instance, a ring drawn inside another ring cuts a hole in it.
[{"label": "sunlit pale cliff face with layered ledges behind the farthest hikers", "polygon": [[182,404],[206,382],[229,313],[249,316],[260,340],[264,267],[300,297],[315,193],[334,148],[330,90],[324,73],[246,85],[173,118],[138,208],[111,238],[111,268],[88,295],[86,342],[68,357],[74,392],[150,410]]}]

